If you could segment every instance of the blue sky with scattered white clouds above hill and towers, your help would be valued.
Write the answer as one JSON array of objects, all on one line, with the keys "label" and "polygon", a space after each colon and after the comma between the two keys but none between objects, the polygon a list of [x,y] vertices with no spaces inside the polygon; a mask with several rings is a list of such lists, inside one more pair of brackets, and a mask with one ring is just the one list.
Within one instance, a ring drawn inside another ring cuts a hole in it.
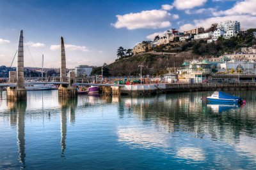
[{"label": "blue sky with scattered white clouds above hill and towers", "polygon": [[[133,48],[175,28],[208,28],[225,20],[256,27],[256,0],[1,0],[0,66],[11,66],[20,30],[24,66],[60,67],[60,38],[67,67],[102,66],[119,46]],[[15,66],[16,62],[13,63]]]}]

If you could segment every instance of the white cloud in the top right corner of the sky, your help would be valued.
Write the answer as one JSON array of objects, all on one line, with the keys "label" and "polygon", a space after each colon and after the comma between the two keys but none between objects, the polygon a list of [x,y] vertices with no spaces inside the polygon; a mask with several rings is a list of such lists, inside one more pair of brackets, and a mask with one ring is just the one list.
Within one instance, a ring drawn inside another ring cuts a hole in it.
[{"label": "white cloud in the top right corner of the sky", "polygon": [[233,8],[230,8],[229,10],[225,11],[218,11],[215,12],[215,16],[220,16],[220,15],[256,15],[256,1],[255,0],[244,0],[244,1],[239,1],[237,2]]}]

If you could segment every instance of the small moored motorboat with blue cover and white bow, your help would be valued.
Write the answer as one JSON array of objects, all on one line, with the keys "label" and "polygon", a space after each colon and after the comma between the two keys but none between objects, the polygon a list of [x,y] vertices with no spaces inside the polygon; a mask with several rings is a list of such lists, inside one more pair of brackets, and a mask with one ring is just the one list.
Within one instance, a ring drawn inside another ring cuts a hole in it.
[{"label": "small moored motorboat with blue cover and white bow", "polygon": [[232,96],[225,92],[214,92],[212,96],[207,97],[207,99],[219,103],[243,103],[241,97]]}]

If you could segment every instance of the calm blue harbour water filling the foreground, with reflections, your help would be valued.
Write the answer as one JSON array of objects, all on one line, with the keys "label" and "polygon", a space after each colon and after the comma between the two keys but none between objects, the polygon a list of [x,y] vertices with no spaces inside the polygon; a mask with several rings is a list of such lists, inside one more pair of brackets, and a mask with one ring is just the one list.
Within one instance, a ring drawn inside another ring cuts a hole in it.
[{"label": "calm blue harbour water filling the foreground, with reflections", "polygon": [[237,105],[212,92],[150,97],[29,91],[0,97],[0,169],[255,169],[256,92]]}]

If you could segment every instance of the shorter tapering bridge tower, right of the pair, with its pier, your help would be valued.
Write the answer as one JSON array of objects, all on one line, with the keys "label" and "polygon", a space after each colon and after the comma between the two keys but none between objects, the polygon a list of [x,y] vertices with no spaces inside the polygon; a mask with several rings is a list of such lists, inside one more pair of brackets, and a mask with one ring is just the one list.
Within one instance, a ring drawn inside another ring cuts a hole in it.
[{"label": "shorter tapering bridge tower, right of the pair, with its pier", "polygon": [[61,67],[60,67],[60,81],[61,82],[69,82],[68,85],[60,85],[59,87],[59,97],[77,97],[77,89],[76,87],[72,87],[72,83],[74,83],[74,73],[71,71],[69,78],[67,78],[66,73],[66,56],[65,56],[65,46],[63,37],[61,37]]}]

